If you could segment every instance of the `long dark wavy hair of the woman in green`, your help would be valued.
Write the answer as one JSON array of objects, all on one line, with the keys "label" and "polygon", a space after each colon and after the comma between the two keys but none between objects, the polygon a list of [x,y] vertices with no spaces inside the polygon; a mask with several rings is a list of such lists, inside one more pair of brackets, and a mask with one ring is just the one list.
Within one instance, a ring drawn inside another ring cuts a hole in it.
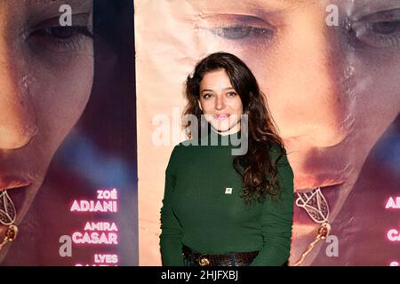
[{"label": "long dark wavy hair of the woman in green", "polygon": [[[188,75],[185,83],[185,95],[188,105],[183,115],[194,114],[197,117],[197,130],[201,129],[201,115],[198,106],[200,98],[200,83],[205,74],[224,69],[230,83],[242,99],[243,112],[248,114],[248,151],[234,158],[233,166],[243,180],[242,197],[246,203],[264,201],[269,194],[272,197],[280,195],[281,188],[277,179],[276,163],[286,154],[282,138],[277,134],[275,122],[268,110],[267,98],[260,91],[252,71],[241,59],[227,52],[212,53],[196,64],[192,75]],[[183,122],[191,138],[190,122]],[[277,144],[282,149],[276,161],[272,161],[269,149]]]}]

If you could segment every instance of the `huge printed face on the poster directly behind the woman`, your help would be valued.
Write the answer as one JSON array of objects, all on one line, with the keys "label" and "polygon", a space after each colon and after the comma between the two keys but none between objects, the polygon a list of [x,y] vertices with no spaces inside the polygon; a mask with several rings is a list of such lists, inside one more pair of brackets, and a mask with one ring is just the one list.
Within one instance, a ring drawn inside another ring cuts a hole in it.
[{"label": "huge printed face on the poster directly behind the woman", "polygon": [[[173,82],[168,85],[179,89],[206,54],[227,51],[243,59],[268,98],[292,165],[295,192],[321,187],[332,222],[372,146],[399,114],[400,2],[179,3],[144,5],[152,15],[149,20],[163,21],[140,24],[148,35],[158,35],[157,41],[165,43],[159,53],[151,52],[148,61],[162,62],[164,74],[174,72],[176,79],[169,79]],[[156,13],[164,16],[155,17]],[[167,62],[165,50],[172,51],[172,62],[186,59],[186,68]],[[146,53],[139,49],[139,54],[145,62]],[[317,226],[295,206],[292,262],[315,239]]]}]

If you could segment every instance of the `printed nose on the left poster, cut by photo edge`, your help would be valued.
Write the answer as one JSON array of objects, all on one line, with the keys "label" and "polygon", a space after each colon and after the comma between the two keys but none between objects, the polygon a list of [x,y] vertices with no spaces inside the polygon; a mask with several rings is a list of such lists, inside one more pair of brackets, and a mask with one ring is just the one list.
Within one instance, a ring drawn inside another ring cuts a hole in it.
[{"label": "printed nose on the left poster, cut by photo edge", "polygon": [[27,76],[20,72],[25,63],[12,55],[14,51],[10,45],[0,39],[1,150],[26,146],[37,129],[34,109],[28,98]]}]

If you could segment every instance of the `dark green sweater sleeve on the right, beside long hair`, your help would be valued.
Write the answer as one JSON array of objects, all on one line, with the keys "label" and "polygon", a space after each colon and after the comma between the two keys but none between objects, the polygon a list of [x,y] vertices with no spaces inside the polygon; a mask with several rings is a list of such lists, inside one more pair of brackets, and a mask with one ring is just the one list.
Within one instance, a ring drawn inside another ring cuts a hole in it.
[{"label": "dark green sweater sleeve on the right, beside long hair", "polygon": [[[279,153],[272,153],[272,156],[279,158]],[[293,171],[285,154],[282,154],[276,163],[277,178],[282,189],[281,199],[267,198],[263,204],[261,216],[263,248],[254,258],[251,266],[281,266],[290,255],[293,224]]]}]

